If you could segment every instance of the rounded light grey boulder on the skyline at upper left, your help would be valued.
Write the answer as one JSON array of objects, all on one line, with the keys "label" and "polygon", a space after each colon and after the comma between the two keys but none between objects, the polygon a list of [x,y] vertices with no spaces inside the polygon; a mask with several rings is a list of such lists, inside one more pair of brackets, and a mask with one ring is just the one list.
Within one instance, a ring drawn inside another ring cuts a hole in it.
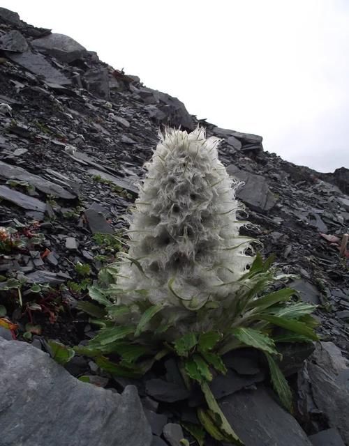
[{"label": "rounded light grey boulder on the skyline at upper left", "polygon": [[49,36],[33,40],[31,45],[44,51],[62,62],[73,62],[87,54],[87,49],[76,40],[64,34],[52,33]]}]

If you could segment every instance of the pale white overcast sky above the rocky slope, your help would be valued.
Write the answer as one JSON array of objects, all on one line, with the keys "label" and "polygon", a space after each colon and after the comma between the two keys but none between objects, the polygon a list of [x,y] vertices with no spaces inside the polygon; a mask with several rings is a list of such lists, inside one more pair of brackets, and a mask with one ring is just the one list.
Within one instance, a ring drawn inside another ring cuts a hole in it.
[{"label": "pale white overcast sky above the rocky slope", "polygon": [[349,168],[348,0],[2,0],[223,128]]}]

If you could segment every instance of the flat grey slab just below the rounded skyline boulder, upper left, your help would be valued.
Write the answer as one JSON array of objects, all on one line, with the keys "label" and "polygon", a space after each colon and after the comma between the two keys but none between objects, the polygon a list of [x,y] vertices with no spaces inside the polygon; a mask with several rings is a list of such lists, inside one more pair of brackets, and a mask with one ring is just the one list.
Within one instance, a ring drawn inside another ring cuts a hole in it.
[{"label": "flat grey slab just below the rounded skyline boulder, upper left", "polygon": [[11,61],[18,63],[22,67],[33,72],[34,75],[42,76],[48,82],[60,85],[71,84],[70,79],[57,70],[57,68],[54,68],[54,66],[45,59],[43,54],[35,54],[28,50],[20,54],[6,52],[6,56],[8,59],[11,59]]}]

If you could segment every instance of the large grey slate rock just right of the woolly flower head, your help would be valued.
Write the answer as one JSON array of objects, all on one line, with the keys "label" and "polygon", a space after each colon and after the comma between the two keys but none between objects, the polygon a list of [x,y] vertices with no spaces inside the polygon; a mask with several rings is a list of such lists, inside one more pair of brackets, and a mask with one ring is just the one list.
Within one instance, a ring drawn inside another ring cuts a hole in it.
[{"label": "large grey slate rock just right of the woolly flower head", "polygon": [[270,192],[265,178],[239,169],[233,164],[227,167],[227,172],[229,175],[244,181],[244,186],[237,190],[237,197],[244,201],[248,207],[257,212],[264,213],[275,206],[276,198]]}]

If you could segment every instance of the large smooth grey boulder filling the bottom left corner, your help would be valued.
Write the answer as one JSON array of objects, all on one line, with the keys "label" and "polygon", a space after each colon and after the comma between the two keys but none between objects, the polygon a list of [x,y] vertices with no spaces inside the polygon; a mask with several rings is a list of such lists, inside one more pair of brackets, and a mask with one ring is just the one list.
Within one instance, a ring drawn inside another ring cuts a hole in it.
[{"label": "large smooth grey boulder filling the bottom left corner", "polygon": [[46,353],[0,338],[1,446],[149,446],[135,387],[115,394],[70,376]]}]

